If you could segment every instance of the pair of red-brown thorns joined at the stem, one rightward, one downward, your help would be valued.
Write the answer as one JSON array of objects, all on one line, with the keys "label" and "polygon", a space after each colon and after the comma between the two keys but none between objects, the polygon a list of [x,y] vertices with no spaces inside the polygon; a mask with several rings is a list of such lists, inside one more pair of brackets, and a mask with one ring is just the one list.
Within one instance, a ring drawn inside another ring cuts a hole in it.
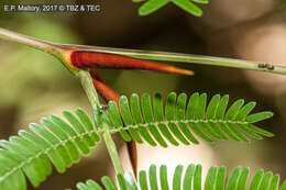
[{"label": "pair of red-brown thorns joined at the stem, one rightward, one downward", "polygon": [[[106,102],[117,102],[118,107],[118,93],[103,80],[103,78],[97,72],[96,68],[150,70],[188,76],[191,76],[194,74],[190,70],[185,70],[173,66],[156,64],[153,62],[131,58],[117,54],[98,53],[91,51],[69,51],[66,53],[65,59],[72,68],[88,70],[98,93],[105,99]],[[128,153],[133,172],[136,176],[138,150],[136,143],[134,141],[128,142]]]}]

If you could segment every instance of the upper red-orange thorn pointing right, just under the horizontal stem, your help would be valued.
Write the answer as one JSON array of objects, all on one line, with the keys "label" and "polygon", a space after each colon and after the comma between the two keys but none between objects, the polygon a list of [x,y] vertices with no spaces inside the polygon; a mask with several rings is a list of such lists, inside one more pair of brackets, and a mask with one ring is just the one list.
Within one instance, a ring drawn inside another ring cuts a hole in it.
[{"label": "upper red-orange thorn pointing right, just under the horizontal stem", "polygon": [[118,68],[118,69],[140,69],[161,72],[194,75],[191,70],[185,70],[173,66],[155,64],[153,62],[127,57],[117,54],[75,51],[68,54],[68,60],[76,68]]}]

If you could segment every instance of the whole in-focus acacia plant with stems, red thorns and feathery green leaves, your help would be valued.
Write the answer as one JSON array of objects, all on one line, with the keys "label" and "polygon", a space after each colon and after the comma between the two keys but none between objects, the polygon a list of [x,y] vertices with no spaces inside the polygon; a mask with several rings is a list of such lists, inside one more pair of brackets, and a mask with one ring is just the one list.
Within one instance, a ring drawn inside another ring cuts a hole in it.
[{"label": "whole in-focus acacia plant with stems, red thorns and feathery green leaves", "polygon": [[[206,0],[194,1],[206,2]],[[147,11],[141,13],[151,13],[167,2],[169,0],[150,0],[142,8],[143,12]],[[173,0],[173,2],[185,1]],[[280,182],[279,175],[273,175],[271,171],[264,172],[261,169],[254,174],[252,179],[249,179],[250,169],[241,167],[234,168],[228,180],[224,166],[211,167],[208,170],[204,188],[201,165],[190,164],[185,171],[183,166],[178,165],[172,182],[167,179],[167,166],[165,165],[160,166],[158,170],[155,165],[152,165],[148,171],[141,170],[136,176],[136,143],[167,147],[167,143],[176,146],[180,144],[193,146],[193,144],[199,144],[200,141],[213,143],[215,141],[262,139],[263,136],[272,137],[273,134],[255,124],[271,118],[273,113],[270,111],[251,113],[255,102],[245,103],[243,99],[229,105],[228,94],[216,94],[210,98],[210,101],[207,101],[206,93],[196,92],[187,96],[172,92],[165,102],[161,94],[139,97],[133,93],[130,98],[119,97],[96,71],[96,68],[101,67],[193,75],[190,70],[150,60],[235,67],[286,75],[284,67],[189,54],[55,44],[4,29],[0,29],[0,38],[41,49],[58,58],[80,80],[94,113],[90,119],[80,108],[75,113],[64,111],[63,116],[67,122],[61,116],[52,114],[41,120],[42,125],[32,123],[30,124],[31,131],[20,130],[18,136],[11,136],[9,141],[0,141],[1,190],[24,190],[26,179],[34,187],[38,187],[52,174],[52,165],[58,172],[65,172],[68,167],[79,161],[80,155],[88,156],[91,148],[100,142],[106,143],[117,172],[117,181],[102,177],[102,185],[108,190],[140,188],[142,190],[160,188],[163,190],[243,190],[246,188],[250,190],[286,190],[286,181]],[[99,101],[98,94],[106,100],[106,103]],[[118,133],[125,142],[129,142],[133,174],[122,169],[112,139],[112,134]],[[85,183],[78,182],[77,188],[79,190],[102,189],[100,185],[90,179]]]}]

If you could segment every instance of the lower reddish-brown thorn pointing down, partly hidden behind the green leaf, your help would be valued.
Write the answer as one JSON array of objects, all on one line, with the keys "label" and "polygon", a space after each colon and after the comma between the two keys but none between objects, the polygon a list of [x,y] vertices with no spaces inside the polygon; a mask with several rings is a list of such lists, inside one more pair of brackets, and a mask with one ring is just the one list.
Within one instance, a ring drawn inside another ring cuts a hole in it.
[{"label": "lower reddish-brown thorn pointing down, partly hidden behind the green leaf", "polygon": [[[106,83],[103,78],[96,71],[96,69],[88,69],[95,88],[97,89],[98,93],[105,99],[106,102],[114,101],[119,107],[119,96],[118,93]],[[119,109],[120,111],[120,109]],[[121,114],[121,113],[120,113]],[[127,143],[128,144],[128,154],[131,160],[131,166],[135,178],[138,179],[138,147],[136,142],[134,139]]]}]

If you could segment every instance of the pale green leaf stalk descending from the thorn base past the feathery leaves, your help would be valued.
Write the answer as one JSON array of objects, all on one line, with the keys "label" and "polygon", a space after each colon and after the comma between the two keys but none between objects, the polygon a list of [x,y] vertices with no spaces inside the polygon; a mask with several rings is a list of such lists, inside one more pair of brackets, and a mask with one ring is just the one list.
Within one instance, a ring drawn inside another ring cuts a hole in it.
[{"label": "pale green leaf stalk descending from the thorn base past the feathery leaves", "polygon": [[[80,79],[80,82],[81,82],[81,86],[89,99],[89,102],[91,103],[92,105],[92,109],[94,111],[98,111],[101,107],[100,102],[99,102],[99,99],[98,99],[98,94],[97,94],[97,91],[96,91],[96,88],[94,87],[94,83],[92,83],[92,79],[89,75],[88,71],[85,71],[85,70],[80,70],[77,76],[79,77]],[[117,150],[117,147],[116,147],[116,144],[111,137],[111,134],[108,130],[108,124],[102,122],[102,126],[103,128],[103,138],[105,138],[105,142],[106,142],[106,145],[107,145],[107,149],[108,149],[108,153],[111,157],[111,160],[113,163],[113,166],[117,170],[117,172],[120,172],[120,174],[123,174],[123,169],[121,167],[121,163],[120,163],[120,159],[119,159],[119,155],[118,155],[118,150]]]}]

